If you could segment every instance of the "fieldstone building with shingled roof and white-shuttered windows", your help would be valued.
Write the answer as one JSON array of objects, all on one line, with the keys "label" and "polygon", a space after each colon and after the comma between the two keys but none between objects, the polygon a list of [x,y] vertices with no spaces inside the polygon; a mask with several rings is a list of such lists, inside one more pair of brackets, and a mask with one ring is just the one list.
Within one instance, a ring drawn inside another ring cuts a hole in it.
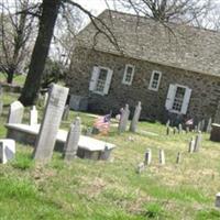
[{"label": "fieldstone building with shingled roof and white-shuttered windows", "polygon": [[96,22],[77,35],[66,79],[73,109],[118,113],[141,101],[142,119],[218,116],[220,33],[110,10]]}]

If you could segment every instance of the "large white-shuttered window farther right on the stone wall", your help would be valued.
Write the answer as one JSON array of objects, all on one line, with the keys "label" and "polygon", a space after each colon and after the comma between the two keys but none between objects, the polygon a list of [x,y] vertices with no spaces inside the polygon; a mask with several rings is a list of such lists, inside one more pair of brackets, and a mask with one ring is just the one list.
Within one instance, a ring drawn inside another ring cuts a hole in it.
[{"label": "large white-shuttered window farther right on the stone wall", "polygon": [[168,111],[186,114],[191,89],[183,85],[169,85],[165,107]]}]

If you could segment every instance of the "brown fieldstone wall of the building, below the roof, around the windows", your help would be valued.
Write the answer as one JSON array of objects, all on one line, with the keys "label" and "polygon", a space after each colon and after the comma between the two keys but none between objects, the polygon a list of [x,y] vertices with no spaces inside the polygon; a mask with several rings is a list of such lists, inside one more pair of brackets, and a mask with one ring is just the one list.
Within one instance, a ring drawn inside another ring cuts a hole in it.
[{"label": "brown fieldstone wall of the building, below the roof, around the windows", "polygon": [[[127,64],[135,66],[131,86],[122,84]],[[113,70],[109,94],[106,96],[89,91],[89,81],[95,65],[106,66]],[[152,70],[162,72],[158,91],[148,90]],[[125,103],[134,108],[138,101],[141,101],[141,118],[161,121],[165,118],[165,101],[169,84],[179,84],[193,89],[187,117],[194,117],[198,120],[215,117],[220,95],[220,77],[82,47],[75,50],[66,84],[70,88],[70,94],[89,98],[89,111],[108,113],[110,110],[113,110],[113,113],[118,113],[119,109]],[[133,110],[131,108],[131,111]]]}]

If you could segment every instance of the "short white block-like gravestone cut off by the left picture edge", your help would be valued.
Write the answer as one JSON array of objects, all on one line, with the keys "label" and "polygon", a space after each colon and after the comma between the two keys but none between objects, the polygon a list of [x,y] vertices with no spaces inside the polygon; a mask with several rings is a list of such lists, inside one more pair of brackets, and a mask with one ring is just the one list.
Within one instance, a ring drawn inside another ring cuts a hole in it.
[{"label": "short white block-like gravestone cut off by the left picture edge", "polygon": [[15,141],[12,139],[0,140],[0,163],[6,164],[15,154]]}]

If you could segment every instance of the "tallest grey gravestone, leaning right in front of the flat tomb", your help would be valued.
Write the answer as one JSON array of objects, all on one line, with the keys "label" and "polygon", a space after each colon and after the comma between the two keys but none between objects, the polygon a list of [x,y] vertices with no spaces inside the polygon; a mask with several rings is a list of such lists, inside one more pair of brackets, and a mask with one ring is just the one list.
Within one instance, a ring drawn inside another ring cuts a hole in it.
[{"label": "tallest grey gravestone, leaning right in front of the flat tomb", "polygon": [[68,88],[52,85],[33,153],[35,160],[50,161],[52,157],[67,95]]}]

